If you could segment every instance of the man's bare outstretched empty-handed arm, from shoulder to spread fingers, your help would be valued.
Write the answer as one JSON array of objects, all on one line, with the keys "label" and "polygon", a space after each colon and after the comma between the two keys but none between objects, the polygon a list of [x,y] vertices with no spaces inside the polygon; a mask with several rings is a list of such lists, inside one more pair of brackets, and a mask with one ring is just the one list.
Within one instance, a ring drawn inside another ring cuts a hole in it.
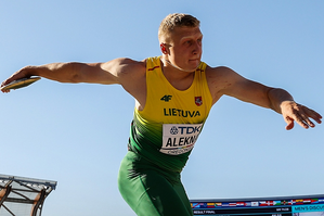
[{"label": "man's bare outstretched empty-handed arm, from shoulder to spread fingers", "polygon": [[208,84],[215,100],[218,100],[222,94],[226,94],[245,102],[272,109],[283,115],[287,123],[287,130],[294,128],[294,122],[303,128],[315,126],[310,118],[313,118],[317,124],[322,123],[322,116],[319,113],[296,103],[284,89],[271,88],[248,80],[228,67],[209,67],[208,71]]}]

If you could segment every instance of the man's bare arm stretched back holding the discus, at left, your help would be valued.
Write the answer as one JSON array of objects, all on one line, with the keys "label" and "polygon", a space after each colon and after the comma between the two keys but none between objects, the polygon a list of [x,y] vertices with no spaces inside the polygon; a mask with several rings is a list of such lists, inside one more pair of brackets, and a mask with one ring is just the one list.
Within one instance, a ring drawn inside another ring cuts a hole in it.
[{"label": "man's bare arm stretched back holding the discus, at left", "polygon": [[[127,77],[124,76],[130,67],[135,69],[135,61],[129,59],[116,59],[105,63],[51,63],[41,66],[26,66],[11,77],[4,80],[1,85],[4,86],[13,80],[27,78],[30,76],[40,76],[60,82],[90,82],[90,84],[122,84],[127,82]],[[125,84],[126,86],[128,84]],[[9,92],[10,90],[3,90]]]}]

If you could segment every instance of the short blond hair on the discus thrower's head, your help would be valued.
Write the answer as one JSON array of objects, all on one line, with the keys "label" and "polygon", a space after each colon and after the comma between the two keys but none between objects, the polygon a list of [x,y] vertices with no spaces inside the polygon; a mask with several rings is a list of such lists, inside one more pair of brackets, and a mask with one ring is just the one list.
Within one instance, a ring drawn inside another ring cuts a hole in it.
[{"label": "short blond hair on the discus thrower's head", "polygon": [[160,23],[158,28],[158,39],[161,38],[174,29],[174,27],[197,27],[200,25],[200,22],[189,14],[183,13],[173,13],[167,15]]}]

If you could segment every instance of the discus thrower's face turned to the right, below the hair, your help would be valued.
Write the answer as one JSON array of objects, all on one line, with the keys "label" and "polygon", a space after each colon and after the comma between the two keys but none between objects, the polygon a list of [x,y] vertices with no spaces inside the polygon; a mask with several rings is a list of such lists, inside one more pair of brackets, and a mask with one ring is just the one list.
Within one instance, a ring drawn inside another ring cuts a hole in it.
[{"label": "discus thrower's face turned to the right, below the hair", "polygon": [[202,59],[199,27],[176,27],[170,35],[169,61],[182,69],[195,71]]}]

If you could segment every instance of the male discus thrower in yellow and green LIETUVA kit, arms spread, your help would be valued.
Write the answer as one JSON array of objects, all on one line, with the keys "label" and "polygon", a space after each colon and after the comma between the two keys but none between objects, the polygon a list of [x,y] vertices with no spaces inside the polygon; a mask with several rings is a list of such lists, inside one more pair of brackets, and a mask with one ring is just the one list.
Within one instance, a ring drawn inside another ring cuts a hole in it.
[{"label": "male discus thrower in yellow and green LIETUVA kit, arms spread", "polygon": [[161,56],[27,66],[2,84],[35,75],[61,82],[119,84],[133,96],[134,118],[118,186],[138,215],[193,215],[180,173],[211,106],[224,94],[274,110],[283,115],[286,129],[294,122],[314,127],[310,118],[321,124],[320,114],[296,103],[287,91],[200,62],[203,35],[195,17],[168,15],[158,39]]}]

